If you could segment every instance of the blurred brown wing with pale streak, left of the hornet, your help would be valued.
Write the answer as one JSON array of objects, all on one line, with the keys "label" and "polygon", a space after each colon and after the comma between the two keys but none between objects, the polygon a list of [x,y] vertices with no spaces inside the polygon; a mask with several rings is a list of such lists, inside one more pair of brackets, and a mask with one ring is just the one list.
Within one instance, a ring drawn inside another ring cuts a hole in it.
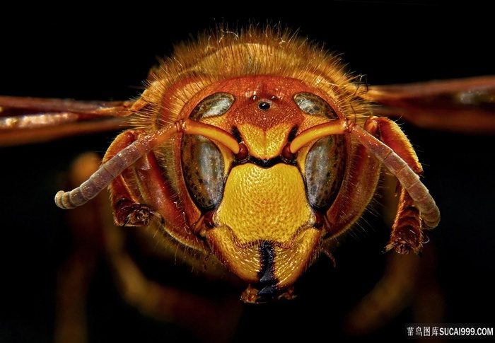
[{"label": "blurred brown wing with pale streak, left of the hornet", "polygon": [[0,146],[124,129],[133,104],[0,96]]}]

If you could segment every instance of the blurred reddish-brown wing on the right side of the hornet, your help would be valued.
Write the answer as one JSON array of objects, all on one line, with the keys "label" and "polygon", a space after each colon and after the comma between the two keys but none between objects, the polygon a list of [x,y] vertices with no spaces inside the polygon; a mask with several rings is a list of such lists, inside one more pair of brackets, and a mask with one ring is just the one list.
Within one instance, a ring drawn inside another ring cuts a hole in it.
[{"label": "blurred reddish-brown wing on the right side of the hornet", "polygon": [[400,117],[418,127],[495,132],[495,76],[371,86],[359,96],[380,105],[376,115]]}]

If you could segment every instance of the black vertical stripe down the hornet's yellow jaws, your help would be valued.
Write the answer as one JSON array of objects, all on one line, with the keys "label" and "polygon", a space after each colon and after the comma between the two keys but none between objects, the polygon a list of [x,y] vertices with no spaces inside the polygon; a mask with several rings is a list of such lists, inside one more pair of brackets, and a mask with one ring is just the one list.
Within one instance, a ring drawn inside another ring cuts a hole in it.
[{"label": "black vertical stripe down the hornet's yellow jaws", "polygon": [[262,269],[258,272],[260,282],[257,285],[260,289],[257,302],[272,301],[276,299],[283,291],[276,285],[279,280],[275,277],[275,250],[272,243],[263,242],[260,245]]}]

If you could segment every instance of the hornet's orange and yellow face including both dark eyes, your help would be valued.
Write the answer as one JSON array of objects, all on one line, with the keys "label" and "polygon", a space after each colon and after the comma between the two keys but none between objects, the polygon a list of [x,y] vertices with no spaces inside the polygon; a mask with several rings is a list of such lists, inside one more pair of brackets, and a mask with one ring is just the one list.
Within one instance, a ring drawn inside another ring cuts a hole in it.
[{"label": "hornet's orange and yellow face including both dark eyes", "polygon": [[235,156],[202,136],[182,136],[177,153],[187,193],[206,218],[195,231],[228,269],[260,289],[258,300],[276,298],[320,247],[322,218],[344,179],[347,152],[344,136],[313,141],[292,158],[284,147],[338,117],[296,79],[240,77],[208,91],[216,93],[190,119],[232,133],[246,149]]}]

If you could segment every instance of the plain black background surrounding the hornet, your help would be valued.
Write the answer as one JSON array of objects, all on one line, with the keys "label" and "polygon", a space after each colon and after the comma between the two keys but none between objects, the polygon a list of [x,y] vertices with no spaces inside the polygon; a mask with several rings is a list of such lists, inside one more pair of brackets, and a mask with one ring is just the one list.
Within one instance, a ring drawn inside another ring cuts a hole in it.
[{"label": "plain black background surrounding the hornet", "polygon": [[[487,8],[439,4],[330,1],[149,5],[71,9],[13,7],[0,25],[0,94],[123,100],[139,93],[156,58],[175,42],[217,22],[267,19],[299,28],[342,53],[368,83],[402,83],[495,74],[494,30]],[[234,9],[237,7],[237,9]],[[494,326],[494,153],[492,135],[403,126],[424,163],[424,182],[441,209],[426,248],[436,252],[445,322]],[[115,134],[62,139],[0,150],[0,342],[52,342],[54,282],[70,231],[53,204],[59,176],[81,151],[103,153]],[[374,223],[374,219],[369,219]],[[383,274],[387,228],[356,231],[330,262],[304,275],[293,303],[247,307],[235,342],[305,337],[351,339],[347,311]],[[430,248],[431,247],[431,248]],[[103,270],[105,270],[103,268]],[[170,326],[126,306],[105,272],[93,281],[91,342],[180,340]],[[373,337],[399,340],[407,308]],[[187,335],[187,333],[185,334]],[[189,337],[189,336],[185,336]]]}]

